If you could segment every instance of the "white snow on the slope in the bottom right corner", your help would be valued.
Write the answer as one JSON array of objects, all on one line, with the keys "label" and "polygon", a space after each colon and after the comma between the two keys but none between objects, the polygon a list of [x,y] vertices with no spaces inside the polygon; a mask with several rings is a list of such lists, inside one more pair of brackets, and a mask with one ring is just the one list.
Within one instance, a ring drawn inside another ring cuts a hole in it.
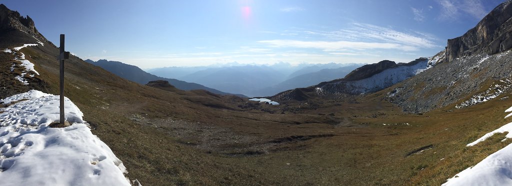
[{"label": "white snow on the slope in the bottom right corner", "polygon": [[[512,107],[505,112],[512,112]],[[512,114],[508,114],[505,118],[510,115]],[[483,135],[467,146],[474,146],[495,133],[503,132],[509,132],[505,137],[512,138],[512,123]],[[512,185],[512,144],[489,155],[476,166],[467,168],[448,179],[443,185]]]}]

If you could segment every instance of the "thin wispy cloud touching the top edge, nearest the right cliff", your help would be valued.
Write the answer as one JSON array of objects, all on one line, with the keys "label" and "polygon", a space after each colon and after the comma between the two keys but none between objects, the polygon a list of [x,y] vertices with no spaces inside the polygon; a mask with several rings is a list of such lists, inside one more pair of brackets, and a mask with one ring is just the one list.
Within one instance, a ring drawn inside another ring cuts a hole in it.
[{"label": "thin wispy cloud touching the top edge, nearest the right cliff", "polygon": [[439,19],[442,20],[457,20],[464,13],[481,19],[487,14],[482,0],[438,0],[437,3],[441,6]]}]

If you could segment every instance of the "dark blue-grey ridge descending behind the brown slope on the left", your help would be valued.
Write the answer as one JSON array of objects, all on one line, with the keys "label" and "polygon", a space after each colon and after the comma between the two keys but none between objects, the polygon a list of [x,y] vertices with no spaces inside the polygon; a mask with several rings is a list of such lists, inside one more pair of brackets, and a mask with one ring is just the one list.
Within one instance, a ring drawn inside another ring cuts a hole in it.
[{"label": "dark blue-grey ridge descending behind the brown slope on the left", "polygon": [[241,94],[231,94],[231,93],[223,92],[223,91],[220,91],[220,90],[217,90],[214,88],[209,88],[209,87],[197,84],[197,83],[189,83],[189,82],[180,81],[177,79],[158,77],[153,74],[144,72],[142,69],[140,69],[137,66],[125,64],[125,63],[122,63],[119,61],[108,61],[105,59],[101,59],[98,61],[93,61],[93,60],[87,59],[85,61],[88,63],[91,63],[93,65],[99,66],[99,67],[105,69],[106,71],[109,71],[121,78],[130,80],[130,81],[133,81],[133,82],[136,82],[139,84],[143,84],[143,85],[147,84],[150,81],[165,80],[165,81],[168,81],[173,86],[175,86],[176,88],[179,88],[182,90],[203,89],[203,90],[207,90],[212,93],[219,94],[219,95],[236,95],[236,96],[240,96],[240,97],[246,97]]}]

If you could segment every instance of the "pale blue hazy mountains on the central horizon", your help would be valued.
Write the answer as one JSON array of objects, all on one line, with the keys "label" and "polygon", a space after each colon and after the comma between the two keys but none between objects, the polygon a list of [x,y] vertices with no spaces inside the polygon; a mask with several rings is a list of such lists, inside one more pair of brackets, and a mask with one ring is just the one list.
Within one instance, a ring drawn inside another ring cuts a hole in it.
[{"label": "pale blue hazy mountains on the central horizon", "polygon": [[345,77],[363,64],[228,65],[199,67],[162,67],[147,72],[166,78],[199,83],[226,92],[249,97],[272,96],[283,90],[307,87]]}]

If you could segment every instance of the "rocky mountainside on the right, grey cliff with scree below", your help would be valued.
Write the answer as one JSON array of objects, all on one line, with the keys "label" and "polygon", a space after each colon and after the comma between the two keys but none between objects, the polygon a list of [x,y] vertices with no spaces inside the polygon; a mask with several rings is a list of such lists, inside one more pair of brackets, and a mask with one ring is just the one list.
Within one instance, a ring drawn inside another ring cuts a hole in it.
[{"label": "rocky mountainside on the right, grey cliff with scree below", "polygon": [[[404,110],[424,112],[449,106],[458,109],[499,97],[510,91],[512,3],[506,1],[475,28],[448,40],[442,62],[430,71],[394,87],[391,101]],[[445,57],[444,57],[445,56]]]}]

